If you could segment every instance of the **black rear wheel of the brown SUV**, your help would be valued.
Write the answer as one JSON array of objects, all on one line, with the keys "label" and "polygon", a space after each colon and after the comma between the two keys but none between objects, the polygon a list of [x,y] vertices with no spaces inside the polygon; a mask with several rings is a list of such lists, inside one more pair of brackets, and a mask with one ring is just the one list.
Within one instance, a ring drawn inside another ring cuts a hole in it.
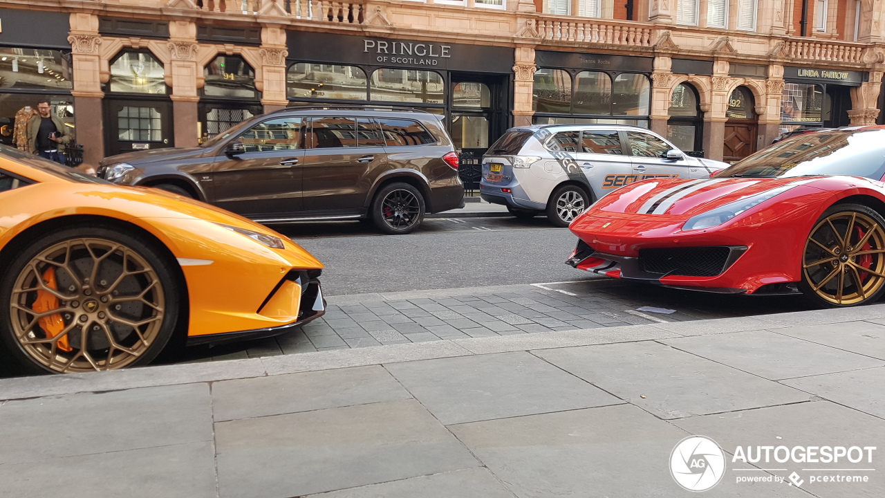
[{"label": "black rear wheel of the brown SUV", "polygon": [[390,235],[412,233],[424,221],[424,195],[409,183],[389,183],[375,193],[369,216]]}]

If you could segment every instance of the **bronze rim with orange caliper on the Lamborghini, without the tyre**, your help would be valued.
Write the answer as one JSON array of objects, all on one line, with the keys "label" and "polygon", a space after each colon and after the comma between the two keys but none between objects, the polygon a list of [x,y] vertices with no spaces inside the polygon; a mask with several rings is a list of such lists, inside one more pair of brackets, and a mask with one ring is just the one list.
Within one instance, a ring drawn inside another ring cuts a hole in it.
[{"label": "bronze rim with orange caliper on the Lamborghini, without the tyre", "polygon": [[12,336],[44,370],[120,369],[165,335],[164,291],[157,269],[133,247],[68,238],[19,270],[9,308]]}]

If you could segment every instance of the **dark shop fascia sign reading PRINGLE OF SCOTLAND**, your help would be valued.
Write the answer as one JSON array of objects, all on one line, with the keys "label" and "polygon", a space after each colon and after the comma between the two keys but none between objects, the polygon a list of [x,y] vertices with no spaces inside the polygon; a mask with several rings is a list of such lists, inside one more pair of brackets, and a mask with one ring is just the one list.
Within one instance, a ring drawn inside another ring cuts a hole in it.
[{"label": "dark shop fascia sign reading PRINGLE OF SCOTLAND", "polygon": [[335,65],[513,72],[513,49],[289,31],[289,60]]}]

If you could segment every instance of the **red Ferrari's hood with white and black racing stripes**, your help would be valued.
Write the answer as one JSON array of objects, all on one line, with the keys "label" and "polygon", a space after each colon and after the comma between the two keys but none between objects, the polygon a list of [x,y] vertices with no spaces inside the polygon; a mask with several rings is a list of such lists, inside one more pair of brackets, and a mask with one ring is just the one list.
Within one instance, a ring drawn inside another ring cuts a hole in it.
[{"label": "red Ferrari's hood with white and black racing stripes", "polygon": [[612,192],[590,211],[596,215],[608,212],[689,218],[742,198],[811,181],[809,178],[649,179]]}]

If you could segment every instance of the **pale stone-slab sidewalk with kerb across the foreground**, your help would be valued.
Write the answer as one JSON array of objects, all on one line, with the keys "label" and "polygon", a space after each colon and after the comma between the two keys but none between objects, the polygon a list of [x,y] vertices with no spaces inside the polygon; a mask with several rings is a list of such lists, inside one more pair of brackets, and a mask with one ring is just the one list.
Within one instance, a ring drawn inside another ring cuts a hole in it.
[{"label": "pale stone-slab sidewalk with kerb across the foreground", "polygon": [[881,497],[883,386],[885,305],[8,378],[0,496],[695,496],[669,462],[703,434],[704,495]]}]

